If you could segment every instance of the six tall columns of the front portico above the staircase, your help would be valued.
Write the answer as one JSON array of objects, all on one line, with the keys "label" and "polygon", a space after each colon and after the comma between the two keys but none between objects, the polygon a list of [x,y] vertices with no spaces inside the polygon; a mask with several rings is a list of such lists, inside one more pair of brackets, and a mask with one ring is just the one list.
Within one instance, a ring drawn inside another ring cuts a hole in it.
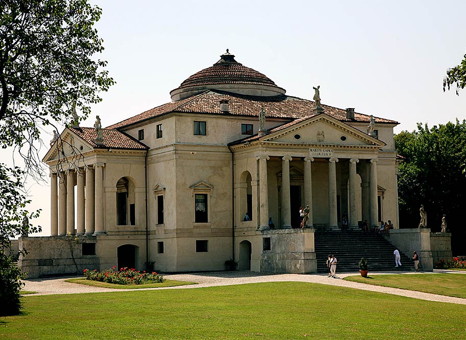
[{"label": "six tall columns of the front portico above the staircase", "polygon": [[[267,161],[268,156],[258,156],[259,161],[259,206],[260,206],[260,226],[259,230],[268,229],[268,180],[267,180]],[[291,156],[282,156],[282,200],[281,200],[281,216],[282,228],[291,228],[291,208],[290,208],[290,175],[289,162],[292,161]],[[309,204],[309,220],[307,225],[313,225],[312,212],[312,162],[314,159],[308,157],[304,159],[304,202]],[[369,184],[369,201],[370,201],[370,225],[378,224],[378,205],[377,205],[377,159],[370,159],[370,184]],[[338,226],[337,216],[337,181],[336,181],[336,163],[338,158],[328,159],[328,197],[329,197],[329,226]],[[356,165],[359,159],[352,158],[349,161],[349,211],[350,221],[349,226],[358,226],[358,178]]]}]

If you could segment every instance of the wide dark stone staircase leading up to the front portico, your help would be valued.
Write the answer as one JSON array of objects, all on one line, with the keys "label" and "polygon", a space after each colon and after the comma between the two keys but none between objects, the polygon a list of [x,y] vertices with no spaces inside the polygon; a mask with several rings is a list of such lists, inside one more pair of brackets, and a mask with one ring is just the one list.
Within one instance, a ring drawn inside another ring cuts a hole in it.
[{"label": "wide dark stone staircase leading up to the front portico", "polygon": [[[314,245],[317,273],[327,273],[325,263],[329,254],[334,254],[338,260],[337,273],[358,272],[361,257],[369,261],[369,272],[394,270],[395,247],[387,239],[365,234],[361,230],[316,230]],[[400,255],[402,269],[414,270],[410,257],[401,252]]]}]

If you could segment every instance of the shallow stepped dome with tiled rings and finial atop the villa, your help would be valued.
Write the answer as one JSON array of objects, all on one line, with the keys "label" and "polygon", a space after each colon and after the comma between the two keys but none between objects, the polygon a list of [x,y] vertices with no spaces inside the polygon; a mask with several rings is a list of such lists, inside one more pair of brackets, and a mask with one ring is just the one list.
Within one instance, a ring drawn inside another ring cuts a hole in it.
[{"label": "shallow stepped dome with tiled rings and finial atop the villa", "polygon": [[171,99],[180,100],[207,89],[224,90],[239,94],[274,96],[284,94],[285,90],[264,74],[246,67],[227,53],[213,66],[194,73],[180,87],[170,92]]}]

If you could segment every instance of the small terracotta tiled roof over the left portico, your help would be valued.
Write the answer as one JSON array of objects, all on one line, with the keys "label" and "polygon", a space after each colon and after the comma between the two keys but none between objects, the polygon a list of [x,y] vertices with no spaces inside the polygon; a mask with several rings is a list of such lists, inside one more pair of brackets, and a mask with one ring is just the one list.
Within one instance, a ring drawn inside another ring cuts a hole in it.
[{"label": "small terracotta tiled roof over the left portico", "polygon": [[73,133],[85,140],[94,148],[113,148],[113,149],[131,149],[146,150],[148,146],[135,140],[131,136],[115,129],[104,128],[104,145],[97,145],[93,140],[97,137],[93,127],[69,128]]}]

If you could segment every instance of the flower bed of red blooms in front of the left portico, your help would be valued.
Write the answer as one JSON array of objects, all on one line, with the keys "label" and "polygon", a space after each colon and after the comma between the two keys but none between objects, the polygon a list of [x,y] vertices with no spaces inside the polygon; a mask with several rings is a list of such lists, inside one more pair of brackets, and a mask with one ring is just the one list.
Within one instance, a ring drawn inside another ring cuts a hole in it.
[{"label": "flower bed of red blooms in front of the left portico", "polygon": [[84,275],[87,280],[116,283],[116,284],[146,284],[146,283],[162,283],[165,279],[162,275],[156,272],[142,273],[134,268],[120,268],[116,270],[116,266],[110,269],[98,272],[94,270],[84,270]]}]

